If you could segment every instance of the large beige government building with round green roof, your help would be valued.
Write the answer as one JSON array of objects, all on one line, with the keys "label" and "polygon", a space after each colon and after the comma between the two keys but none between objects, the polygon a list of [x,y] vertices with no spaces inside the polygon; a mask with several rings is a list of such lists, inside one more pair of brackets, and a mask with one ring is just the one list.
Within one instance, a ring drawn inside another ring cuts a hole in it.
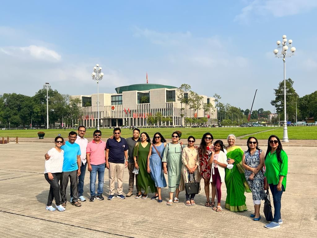
[{"label": "large beige government building with round green roof", "polygon": [[[161,113],[162,121],[159,126],[190,125],[185,123],[187,118],[206,118],[204,124],[217,125],[217,109],[214,98],[205,95],[203,103],[211,103],[209,111],[189,109],[189,105],[178,100],[178,88],[161,84],[133,84],[115,89],[117,93],[99,93],[92,95],[73,95],[70,99],[81,100],[82,115],[78,124],[86,127],[97,127],[97,100],[99,100],[100,128],[117,126],[151,126],[147,121],[150,116]],[[188,93],[184,93],[188,98]],[[169,120],[165,120],[168,118]],[[154,123],[157,125],[157,123]],[[153,124],[152,124],[153,126]]]}]

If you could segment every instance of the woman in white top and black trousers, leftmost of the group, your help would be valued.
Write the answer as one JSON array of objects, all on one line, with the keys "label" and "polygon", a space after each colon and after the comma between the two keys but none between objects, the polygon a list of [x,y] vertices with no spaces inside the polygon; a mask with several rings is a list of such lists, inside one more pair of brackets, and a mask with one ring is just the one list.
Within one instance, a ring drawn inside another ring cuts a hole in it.
[{"label": "woman in white top and black trousers, leftmost of the group", "polygon": [[64,150],[61,149],[64,139],[61,136],[55,138],[55,147],[49,150],[47,154],[50,156],[45,161],[44,176],[47,182],[49,182],[49,198],[46,204],[46,210],[55,211],[52,207],[53,199],[55,199],[56,208],[62,212],[65,208],[61,206],[60,200],[60,185],[61,172],[63,171]]}]

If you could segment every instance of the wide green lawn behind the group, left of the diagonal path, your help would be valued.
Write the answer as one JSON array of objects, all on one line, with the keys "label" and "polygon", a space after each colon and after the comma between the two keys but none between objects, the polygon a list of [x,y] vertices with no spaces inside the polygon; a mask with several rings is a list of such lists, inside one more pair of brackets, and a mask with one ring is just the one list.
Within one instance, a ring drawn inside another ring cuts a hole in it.
[{"label": "wide green lawn behind the group, left of the diagonal path", "polygon": [[[236,136],[248,135],[256,132],[260,132],[263,130],[267,130],[266,127],[226,127],[226,128],[178,128],[177,130],[182,131],[182,138],[187,138],[188,136],[194,136],[195,138],[201,138],[204,133],[210,132],[214,138],[217,139],[226,139],[229,134],[235,134]],[[87,129],[86,137],[92,138],[93,132],[95,129]],[[175,128],[140,128],[141,132],[146,131],[151,139],[155,132],[160,132],[166,138],[171,138],[171,134],[175,131]],[[68,133],[71,129],[63,130],[63,129],[49,129],[49,130],[0,130],[0,137],[38,137],[37,132],[44,131],[45,137],[54,138],[61,134],[63,137],[67,137]],[[76,131],[76,130],[74,130]],[[113,134],[113,129],[101,129],[102,137],[108,138]],[[122,137],[132,136],[132,131],[129,129],[121,129]]]}]

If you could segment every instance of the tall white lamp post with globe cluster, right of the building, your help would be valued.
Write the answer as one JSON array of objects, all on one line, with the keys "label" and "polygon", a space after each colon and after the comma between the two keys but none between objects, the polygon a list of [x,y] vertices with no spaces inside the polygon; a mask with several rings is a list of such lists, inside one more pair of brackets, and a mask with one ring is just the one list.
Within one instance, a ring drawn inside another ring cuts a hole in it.
[{"label": "tall white lamp post with globe cluster, right of the building", "polygon": [[[288,135],[287,135],[287,121],[286,121],[286,76],[285,76],[285,57],[291,57],[295,55],[295,47],[292,47],[292,40],[288,40],[288,45],[287,45],[287,39],[286,35],[282,36],[283,40],[277,41],[277,48],[282,48],[280,54],[278,55],[279,51],[277,49],[273,50],[273,53],[275,54],[275,57],[277,58],[283,58],[283,65],[284,65],[284,128],[283,128],[283,142],[288,142]],[[288,47],[291,47],[291,53],[287,53]]]}]

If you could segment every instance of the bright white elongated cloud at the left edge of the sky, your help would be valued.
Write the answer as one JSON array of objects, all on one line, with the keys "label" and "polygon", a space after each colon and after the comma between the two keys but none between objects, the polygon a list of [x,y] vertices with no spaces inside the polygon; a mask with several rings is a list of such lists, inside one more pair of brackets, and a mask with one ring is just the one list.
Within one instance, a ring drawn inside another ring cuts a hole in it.
[{"label": "bright white elongated cloud at the left edge of the sky", "polygon": [[29,58],[58,62],[61,55],[43,46],[30,45],[26,47],[2,47],[0,51],[6,55],[28,60]]}]

